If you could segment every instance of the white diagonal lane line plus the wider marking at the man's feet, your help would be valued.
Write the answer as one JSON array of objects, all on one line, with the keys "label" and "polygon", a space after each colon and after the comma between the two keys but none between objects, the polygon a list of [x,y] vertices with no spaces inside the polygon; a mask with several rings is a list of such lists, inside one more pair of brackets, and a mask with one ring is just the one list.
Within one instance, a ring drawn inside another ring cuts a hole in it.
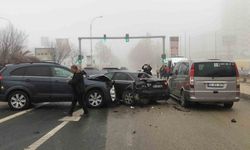
[{"label": "white diagonal lane line plus the wider marking at the man's feet", "polygon": [[69,117],[63,117],[62,119],[59,119],[59,121],[63,121],[61,124],[56,126],[54,129],[49,131],[46,135],[41,137],[39,140],[25,148],[24,150],[36,150],[38,147],[40,147],[43,143],[45,143],[47,140],[49,140],[53,135],[55,135],[59,130],[61,130],[65,125],[67,125],[70,121],[79,121],[81,119],[81,114],[83,113],[83,110],[77,110],[73,113],[73,116]]}]

